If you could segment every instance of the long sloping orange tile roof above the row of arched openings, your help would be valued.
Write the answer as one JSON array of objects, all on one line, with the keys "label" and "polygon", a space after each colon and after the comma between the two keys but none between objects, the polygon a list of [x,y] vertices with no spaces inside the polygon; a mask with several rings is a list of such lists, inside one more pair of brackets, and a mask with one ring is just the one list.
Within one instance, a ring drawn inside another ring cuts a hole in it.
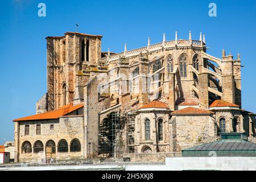
[{"label": "long sloping orange tile roof above the row of arched openings", "polygon": [[68,113],[72,113],[73,111],[80,109],[83,107],[84,104],[79,104],[73,106],[73,103],[65,105],[61,107],[60,109],[57,110],[52,110],[48,111],[46,113],[42,114],[35,114],[35,115],[30,115],[28,117],[24,118],[19,118],[19,119],[14,119],[14,121],[31,121],[31,120],[45,120],[45,119],[57,119],[60,118],[63,115],[66,115]]}]

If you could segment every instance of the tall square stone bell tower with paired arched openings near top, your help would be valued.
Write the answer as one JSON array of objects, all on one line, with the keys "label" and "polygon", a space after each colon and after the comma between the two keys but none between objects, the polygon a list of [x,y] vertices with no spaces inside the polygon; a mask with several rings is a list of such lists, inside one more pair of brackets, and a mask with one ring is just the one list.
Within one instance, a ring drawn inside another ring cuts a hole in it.
[{"label": "tall square stone bell tower with paired arched openings near top", "polygon": [[101,58],[101,35],[66,32],[64,36],[48,36],[47,40],[47,110],[83,101],[88,75],[81,74]]}]

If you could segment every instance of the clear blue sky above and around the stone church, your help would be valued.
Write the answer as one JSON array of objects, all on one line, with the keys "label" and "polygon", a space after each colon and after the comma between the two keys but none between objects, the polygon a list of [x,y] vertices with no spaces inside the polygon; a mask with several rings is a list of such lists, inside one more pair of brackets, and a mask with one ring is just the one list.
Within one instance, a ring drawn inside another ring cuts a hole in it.
[{"label": "clear blue sky above and around the stone church", "polygon": [[[46,17],[38,16],[38,4],[46,3]],[[209,3],[217,5],[217,17],[208,15]],[[121,52],[174,39],[199,39],[205,34],[208,53],[240,52],[242,107],[256,113],[256,1],[1,1],[0,5],[0,144],[13,140],[12,120],[35,114],[36,101],[46,93],[47,36],[79,31],[103,35],[102,51]]]}]

